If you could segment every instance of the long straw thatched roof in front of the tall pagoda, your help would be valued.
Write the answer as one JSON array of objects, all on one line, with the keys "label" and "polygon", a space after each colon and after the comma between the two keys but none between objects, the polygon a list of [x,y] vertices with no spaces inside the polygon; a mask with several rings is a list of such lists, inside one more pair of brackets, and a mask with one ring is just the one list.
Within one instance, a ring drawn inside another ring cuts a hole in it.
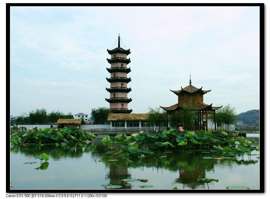
[{"label": "long straw thatched roof in front of the tall pagoda", "polygon": [[110,113],[108,116],[108,121],[116,120],[128,120],[128,121],[138,121],[138,120],[147,120],[147,113]]}]

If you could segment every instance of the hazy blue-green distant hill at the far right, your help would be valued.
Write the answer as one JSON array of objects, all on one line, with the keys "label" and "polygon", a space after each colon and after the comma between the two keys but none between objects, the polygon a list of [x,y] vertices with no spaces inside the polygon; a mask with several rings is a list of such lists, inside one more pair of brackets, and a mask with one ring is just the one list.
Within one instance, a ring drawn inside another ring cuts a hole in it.
[{"label": "hazy blue-green distant hill at the far right", "polygon": [[260,126],[259,110],[254,109],[238,115],[238,121],[243,121],[248,126]]}]

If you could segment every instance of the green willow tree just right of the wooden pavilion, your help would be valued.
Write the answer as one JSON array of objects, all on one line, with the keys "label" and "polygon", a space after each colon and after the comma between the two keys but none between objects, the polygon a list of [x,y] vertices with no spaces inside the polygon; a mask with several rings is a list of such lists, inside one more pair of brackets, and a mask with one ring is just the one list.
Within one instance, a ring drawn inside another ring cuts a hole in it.
[{"label": "green willow tree just right of the wooden pavilion", "polygon": [[[237,122],[237,114],[235,112],[235,108],[231,107],[228,103],[227,106],[223,106],[222,108],[216,111],[216,123],[219,129],[224,128],[227,131],[228,125],[235,124]],[[214,115],[210,115],[209,118],[214,119]]]}]

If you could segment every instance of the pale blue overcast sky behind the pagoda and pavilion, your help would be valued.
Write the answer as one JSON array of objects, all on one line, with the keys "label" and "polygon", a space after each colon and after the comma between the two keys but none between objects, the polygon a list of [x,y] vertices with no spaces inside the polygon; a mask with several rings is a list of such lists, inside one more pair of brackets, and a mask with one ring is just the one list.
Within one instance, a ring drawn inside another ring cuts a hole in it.
[{"label": "pale blue overcast sky behind the pagoda and pavilion", "polygon": [[[259,7],[12,7],[10,114],[109,107],[106,58],[120,33],[131,54],[132,113],[177,103],[259,109]],[[124,47],[121,44],[121,47]]]}]

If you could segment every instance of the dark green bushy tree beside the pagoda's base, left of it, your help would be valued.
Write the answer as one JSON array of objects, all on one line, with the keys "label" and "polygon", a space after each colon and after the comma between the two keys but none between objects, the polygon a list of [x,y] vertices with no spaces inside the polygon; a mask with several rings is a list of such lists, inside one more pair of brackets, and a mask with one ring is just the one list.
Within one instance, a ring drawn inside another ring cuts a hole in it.
[{"label": "dark green bushy tree beside the pagoda's base, left of it", "polygon": [[107,107],[93,108],[91,111],[93,124],[108,124],[107,119],[110,113],[111,111]]}]

